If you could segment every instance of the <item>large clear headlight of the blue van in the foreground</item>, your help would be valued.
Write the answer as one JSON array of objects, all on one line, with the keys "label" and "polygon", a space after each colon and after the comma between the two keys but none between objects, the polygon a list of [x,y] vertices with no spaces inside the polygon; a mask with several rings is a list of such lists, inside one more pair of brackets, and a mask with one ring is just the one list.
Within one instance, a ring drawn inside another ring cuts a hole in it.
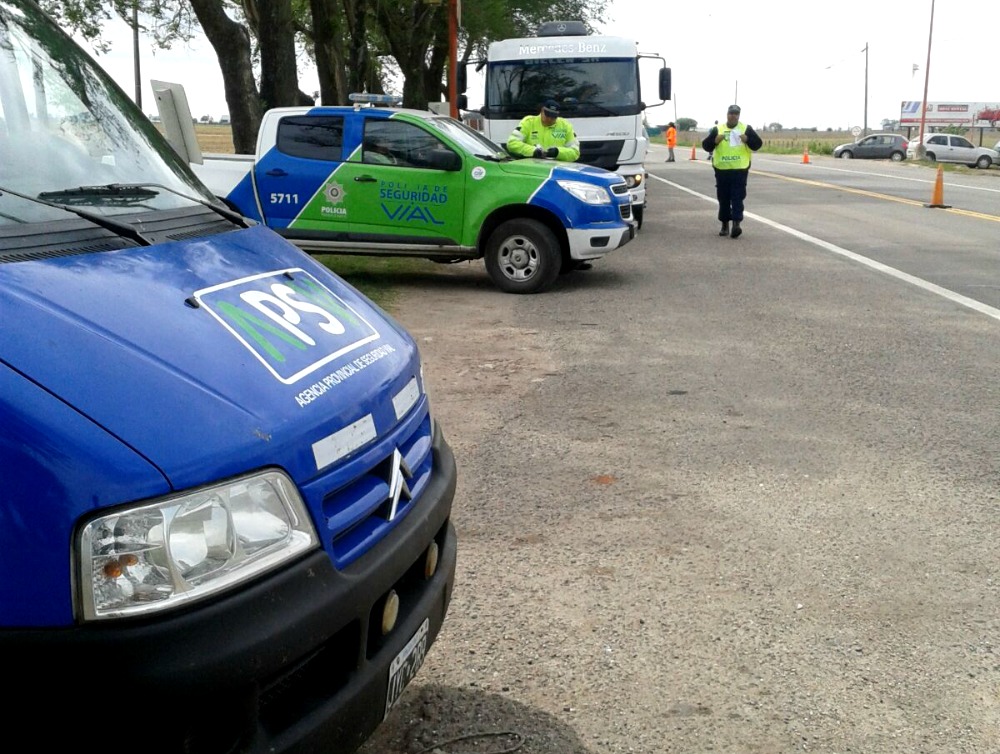
[{"label": "large clear headlight of the blue van in the foreground", "polygon": [[119,509],[80,532],[82,614],[101,620],[170,610],[318,544],[298,490],[278,471]]}]

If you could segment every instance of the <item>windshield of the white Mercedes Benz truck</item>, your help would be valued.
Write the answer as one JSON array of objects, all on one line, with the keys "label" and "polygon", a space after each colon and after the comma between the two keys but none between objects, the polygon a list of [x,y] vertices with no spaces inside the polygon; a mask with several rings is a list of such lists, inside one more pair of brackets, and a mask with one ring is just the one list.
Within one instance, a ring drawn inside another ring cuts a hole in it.
[{"label": "windshield of the white Mercedes Benz truck", "polygon": [[574,58],[490,63],[484,115],[519,118],[554,99],[571,118],[635,115],[640,110],[635,58]]}]

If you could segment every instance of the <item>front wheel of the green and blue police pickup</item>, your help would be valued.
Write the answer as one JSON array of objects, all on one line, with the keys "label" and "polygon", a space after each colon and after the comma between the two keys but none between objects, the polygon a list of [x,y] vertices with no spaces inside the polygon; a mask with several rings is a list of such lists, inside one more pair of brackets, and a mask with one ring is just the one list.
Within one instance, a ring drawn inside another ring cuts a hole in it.
[{"label": "front wheel of the green and blue police pickup", "polygon": [[486,244],[486,271],[505,293],[538,293],[561,266],[559,241],[537,220],[508,220]]}]

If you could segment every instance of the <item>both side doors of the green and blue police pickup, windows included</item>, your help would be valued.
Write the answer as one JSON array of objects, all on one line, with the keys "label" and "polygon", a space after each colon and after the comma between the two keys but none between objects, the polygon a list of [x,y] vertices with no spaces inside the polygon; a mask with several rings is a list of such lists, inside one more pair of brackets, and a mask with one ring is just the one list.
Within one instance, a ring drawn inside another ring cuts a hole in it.
[{"label": "both side doors of the green and blue police pickup, windows included", "polygon": [[462,153],[432,126],[389,115],[371,109],[283,118],[277,149],[257,168],[267,223],[286,228],[290,238],[390,247],[460,245]]}]

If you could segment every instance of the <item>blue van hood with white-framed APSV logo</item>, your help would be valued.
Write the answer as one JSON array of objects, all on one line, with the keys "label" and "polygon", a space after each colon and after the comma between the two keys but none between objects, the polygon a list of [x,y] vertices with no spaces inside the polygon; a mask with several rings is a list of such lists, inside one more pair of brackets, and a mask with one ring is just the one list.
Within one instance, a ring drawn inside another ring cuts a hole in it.
[{"label": "blue van hood with white-framed APSV logo", "polygon": [[405,330],[263,227],[0,265],[0,320],[0,361],[174,489],[301,482],[316,442],[366,417],[382,436],[422,394]]}]

